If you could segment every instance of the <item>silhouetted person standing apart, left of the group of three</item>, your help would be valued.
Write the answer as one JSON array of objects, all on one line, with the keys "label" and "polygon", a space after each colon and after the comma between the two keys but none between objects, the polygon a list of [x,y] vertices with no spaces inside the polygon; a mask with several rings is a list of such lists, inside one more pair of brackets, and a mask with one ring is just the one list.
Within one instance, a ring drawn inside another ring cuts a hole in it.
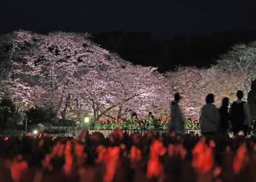
[{"label": "silhouetted person standing apart, left of the group of three", "polygon": [[179,107],[179,101],[181,97],[179,93],[174,95],[174,100],[171,101],[171,121],[169,124],[169,129],[174,130],[176,133],[184,134],[184,118],[183,113]]}]

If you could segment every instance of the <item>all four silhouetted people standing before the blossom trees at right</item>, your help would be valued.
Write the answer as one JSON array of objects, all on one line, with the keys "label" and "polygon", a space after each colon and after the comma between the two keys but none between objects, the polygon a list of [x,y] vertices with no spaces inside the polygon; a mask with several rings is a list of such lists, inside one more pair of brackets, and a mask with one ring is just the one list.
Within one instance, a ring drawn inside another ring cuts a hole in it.
[{"label": "all four silhouetted people standing before the blossom trees at right", "polygon": [[[174,95],[171,101],[171,122],[170,130],[176,133],[184,134],[184,117],[179,107],[179,93]],[[231,130],[234,135],[242,132],[245,136],[251,132],[251,116],[250,109],[246,101],[242,100],[243,92],[237,91],[237,100],[229,107],[229,98],[222,100],[220,108],[214,105],[214,95],[208,94],[205,98],[206,104],[201,108],[200,112],[200,129],[204,136],[224,135]]]}]

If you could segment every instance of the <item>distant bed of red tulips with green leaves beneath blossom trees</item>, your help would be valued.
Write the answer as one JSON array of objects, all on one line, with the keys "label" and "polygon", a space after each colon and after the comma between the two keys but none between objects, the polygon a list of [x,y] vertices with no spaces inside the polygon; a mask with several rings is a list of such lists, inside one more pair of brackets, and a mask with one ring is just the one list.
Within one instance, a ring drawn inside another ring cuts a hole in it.
[{"label": "distant bed of red tulips with green leaves beneath blossom trees", "polygon": [[[114,120],[98,120],[93,122],[93,130],[112,130],[115,128],[124,130],[167,130],[169,122],[171,122],[170,117],[163,116],[154,118],[150,116],[144,116],[138,118],[132,118],[127,120],[126,118],[117,118]],[[200,129],[200,120],[186,120],[185,128],[189,130]]]}]

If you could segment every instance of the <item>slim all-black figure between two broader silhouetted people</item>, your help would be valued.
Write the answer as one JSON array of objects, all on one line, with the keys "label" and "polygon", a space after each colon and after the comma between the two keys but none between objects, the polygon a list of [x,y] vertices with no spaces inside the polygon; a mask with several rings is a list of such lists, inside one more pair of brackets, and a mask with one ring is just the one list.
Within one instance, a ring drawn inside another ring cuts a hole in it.
[{"label": "slim all-black figure between two broader silhouetted people", "polygon": [[224,98],[222,100],[220,111],[220,131],[223,133],[227,133],[229,129],[229,98]]}]

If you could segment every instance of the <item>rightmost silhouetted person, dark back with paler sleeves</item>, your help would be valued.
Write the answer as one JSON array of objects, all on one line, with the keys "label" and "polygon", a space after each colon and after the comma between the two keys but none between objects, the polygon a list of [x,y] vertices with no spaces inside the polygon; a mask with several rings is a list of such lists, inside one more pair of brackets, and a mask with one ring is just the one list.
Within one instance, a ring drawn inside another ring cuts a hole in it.
[{"label": "rightmost silhouetted person, dark back with paler sleeves", "polygon": [[230,107],[230,119],[234,134],[240,130],[247,135],[247,130],[251,127],[250,109],[246,101],[242,101],[243,92],[237,91],[237,100]]}]

